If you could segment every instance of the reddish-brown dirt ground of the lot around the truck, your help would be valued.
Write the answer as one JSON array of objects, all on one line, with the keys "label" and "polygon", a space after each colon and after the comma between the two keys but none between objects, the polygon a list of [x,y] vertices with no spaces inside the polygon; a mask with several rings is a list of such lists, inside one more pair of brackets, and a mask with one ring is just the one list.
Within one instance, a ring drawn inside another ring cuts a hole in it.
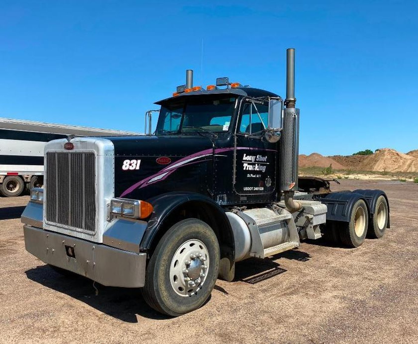
[{"label": "reddish-brown dirt ground of the lot around the truck", "polygon": [[[303,242],[271,260],[237,264],[202,308],[178,318],[137,289],[66,278],[25,251],[28,196],[0,198],[1,343],[418,343],[418,185],[342,180],[383,189],[391,229],[357,249]],[[267,278],[270,277],[270,278]]]}]

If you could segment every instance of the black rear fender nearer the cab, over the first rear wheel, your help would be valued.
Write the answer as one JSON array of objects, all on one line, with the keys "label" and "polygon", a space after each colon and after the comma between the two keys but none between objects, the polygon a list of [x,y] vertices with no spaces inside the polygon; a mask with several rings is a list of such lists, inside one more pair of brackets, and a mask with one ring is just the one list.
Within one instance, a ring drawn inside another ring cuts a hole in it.
[{"label": "black rear fender nearer the cab, over the first rear wheel", "polygon": [[[367,208],[369,208],[369,204],[362,194],[350,191],[332,192],[321,197],[319,200],[323,204],[326,204],[326,221],[350,222],[351,211],[359,199],[363,199],[366,202]],[[367,210],[370,213],[370,209]]]}]

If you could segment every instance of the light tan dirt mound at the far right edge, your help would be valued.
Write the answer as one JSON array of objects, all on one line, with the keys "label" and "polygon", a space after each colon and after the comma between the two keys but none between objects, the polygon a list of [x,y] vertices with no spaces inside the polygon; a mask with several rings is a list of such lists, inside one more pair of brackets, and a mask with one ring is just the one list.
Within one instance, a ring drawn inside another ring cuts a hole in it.
[{"label": "light tan dirt mound at the far right edge", "polygon": [[367,155],[359,165],[359,169],[362,171],[418,172],[418,158],[391,148],[382,148],[375,154]]}]

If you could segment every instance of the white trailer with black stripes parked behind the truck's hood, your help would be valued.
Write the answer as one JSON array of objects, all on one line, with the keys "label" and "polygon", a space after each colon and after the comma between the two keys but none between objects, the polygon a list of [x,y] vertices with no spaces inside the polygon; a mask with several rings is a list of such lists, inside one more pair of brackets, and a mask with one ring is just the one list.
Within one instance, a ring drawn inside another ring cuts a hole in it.
[{"label": "white trailer with black stripes parked behind the truck's hood", "polygon": [[43,148],[51,140],[68,136],[140,135],[99,129],[0,118],[0,195],[19,196],[43,184]]}]

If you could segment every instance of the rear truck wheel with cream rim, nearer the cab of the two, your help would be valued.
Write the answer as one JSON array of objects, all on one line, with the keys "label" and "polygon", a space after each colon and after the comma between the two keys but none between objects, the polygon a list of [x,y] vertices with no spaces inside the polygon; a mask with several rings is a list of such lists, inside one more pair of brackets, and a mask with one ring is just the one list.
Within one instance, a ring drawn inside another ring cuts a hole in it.
[{"label": "rear truck wheel with cream rim, nearer the cab of the two", "polygon": [[354,203],[351,210],[350,222],[341,222],[343,228],[340,229],[341,241],[348,247],[359,247],[364,242],[367,234],[369,216],[366,203],[359,199]]}]

